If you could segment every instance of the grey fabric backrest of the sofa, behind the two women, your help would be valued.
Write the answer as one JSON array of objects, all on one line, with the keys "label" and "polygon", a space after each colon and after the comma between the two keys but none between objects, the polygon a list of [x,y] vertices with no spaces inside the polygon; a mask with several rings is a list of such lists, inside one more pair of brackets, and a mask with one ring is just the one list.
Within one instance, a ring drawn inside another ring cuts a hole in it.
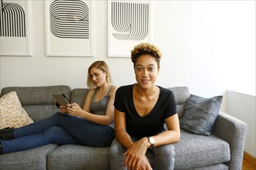
[{"label": "grey fabric backrest of the sofa, behind the two women", "polygon": [[[185,105],[189,100],[188,87],[170,87],[175,95],[175,102],[177,104],[178,117],[181,118],[185,111]],[[55,106],[53,93],[64,93],[71,103],[75,102],[83,107],[85,97],[88,94],[88,88],[76,88],[71,91],[68,86],[47,86],[47,87],[5,87],[1,91],[0,97],[16,91],[22,107],[29,114],[33,121],[40,121],[44,118],[52,116],[56,113],[57,107]]]}]

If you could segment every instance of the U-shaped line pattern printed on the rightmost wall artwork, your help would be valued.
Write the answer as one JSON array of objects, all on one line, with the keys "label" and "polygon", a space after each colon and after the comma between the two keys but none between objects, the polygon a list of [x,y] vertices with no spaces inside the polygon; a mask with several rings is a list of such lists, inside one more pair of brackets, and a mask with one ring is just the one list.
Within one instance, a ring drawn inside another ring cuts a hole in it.
[{"label": "U-shaped line pattern printed on the rightmost wall artwork", "polygon": [[149,4],[112,2],[112,35],[119,40],[143,40],[149,32]]}]

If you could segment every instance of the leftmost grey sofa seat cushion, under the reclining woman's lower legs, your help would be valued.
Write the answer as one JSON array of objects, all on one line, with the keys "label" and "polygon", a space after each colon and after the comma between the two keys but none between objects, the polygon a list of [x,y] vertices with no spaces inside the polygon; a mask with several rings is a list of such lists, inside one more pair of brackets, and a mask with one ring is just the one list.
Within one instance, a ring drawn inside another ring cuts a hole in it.
[{"label": "leftmost grey sofa seat cushion, under the reclining woman's lower legs", "polygon": [[57,148],[57,145],[44,145],[26,151],[17,151],[5,155],[0,155],[1,170],[16,169],[47,169],[47,155]]}]

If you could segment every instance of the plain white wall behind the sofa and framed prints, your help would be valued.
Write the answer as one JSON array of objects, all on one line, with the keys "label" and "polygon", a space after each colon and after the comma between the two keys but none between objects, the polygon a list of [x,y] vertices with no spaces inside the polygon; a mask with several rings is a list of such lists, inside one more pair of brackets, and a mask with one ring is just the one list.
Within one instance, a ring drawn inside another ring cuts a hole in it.
[{"label": "plain white wall behind the sofa and framed prints", "polygon": [[[0,88],[86,87],[88,66],[105,60],[116,86],[134,83],[130,58],[107,57],[107,1],[94,1],[95,56],[46,56],[44,1],[31,2],[33,56],[1,56]],[[154,43],[163,57],[157,84],[202,97],[255,94],[255,1],[151,1]],[[251,117],[251,115],[247,115]]]}]

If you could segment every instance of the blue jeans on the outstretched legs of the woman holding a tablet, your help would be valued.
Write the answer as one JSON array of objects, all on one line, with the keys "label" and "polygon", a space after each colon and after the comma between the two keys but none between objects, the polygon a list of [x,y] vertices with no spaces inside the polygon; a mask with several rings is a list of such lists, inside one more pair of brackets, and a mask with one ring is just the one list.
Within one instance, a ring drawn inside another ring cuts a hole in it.
[{"label": "blue jeans on the outstretched legs of the woman holding a tablet", "polygon": [[14,139],[1,141],[4,154],[50,143],[107,147],[115,138],[115,131],[81,117],[56,113],[43,121],[14,129],[13,135]]}]

